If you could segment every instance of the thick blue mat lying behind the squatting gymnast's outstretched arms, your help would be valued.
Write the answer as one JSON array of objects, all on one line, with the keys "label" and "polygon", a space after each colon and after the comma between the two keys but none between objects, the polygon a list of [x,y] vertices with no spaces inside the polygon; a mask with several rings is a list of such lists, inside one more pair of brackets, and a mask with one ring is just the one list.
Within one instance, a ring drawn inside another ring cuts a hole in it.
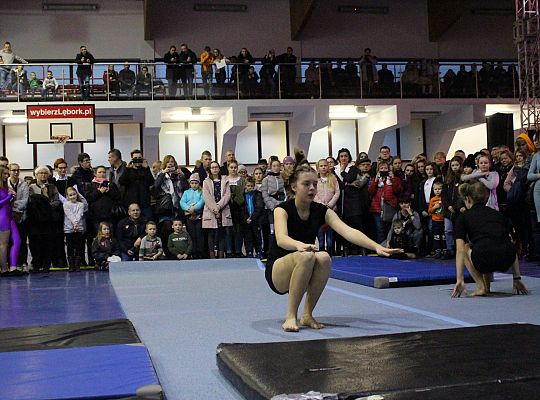
[{"label": "thick blue mat lying behind the squatting gymnast's outstretched arms", "polygon": [[[394,260],[384,257],[335,257],[330,276],[377,289],[455,283],[455,262]],[[466,281],[470,275],[465,272]]]}]

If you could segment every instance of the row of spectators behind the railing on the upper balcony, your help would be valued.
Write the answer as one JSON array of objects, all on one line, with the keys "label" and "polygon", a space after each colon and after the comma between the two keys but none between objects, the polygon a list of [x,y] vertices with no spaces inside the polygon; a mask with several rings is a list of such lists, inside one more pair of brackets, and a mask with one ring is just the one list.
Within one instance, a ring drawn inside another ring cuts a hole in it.
[{"label": "row of spectators behind the railing on the upper balcony", "polygon": [[0,100],[247,98],[516,98],[515,63],[382,62],[366,48],[359,59],[299,61],[288,47],[254,58],[242,48],[226,57],[171,46],[156,62],[98,62],[81,46],[74,60],[29,63],[10,42],[0,50]]}]

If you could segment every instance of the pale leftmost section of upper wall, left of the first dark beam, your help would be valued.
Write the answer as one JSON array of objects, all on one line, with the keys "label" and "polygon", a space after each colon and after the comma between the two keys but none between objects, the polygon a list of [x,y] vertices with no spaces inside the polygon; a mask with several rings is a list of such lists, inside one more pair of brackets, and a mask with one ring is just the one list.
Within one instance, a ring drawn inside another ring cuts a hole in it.
[{"label": "pale leftmost section of upper wall, left of the first dark beam", "polygon": [[144,41],[142,1],[86,3],[99,4],[99,11],[43,12],[41,0],[2,0],[2,39],[11,41],[16,54],[31,59],[75,60],[81,45],[98,59],[153,58]]}]

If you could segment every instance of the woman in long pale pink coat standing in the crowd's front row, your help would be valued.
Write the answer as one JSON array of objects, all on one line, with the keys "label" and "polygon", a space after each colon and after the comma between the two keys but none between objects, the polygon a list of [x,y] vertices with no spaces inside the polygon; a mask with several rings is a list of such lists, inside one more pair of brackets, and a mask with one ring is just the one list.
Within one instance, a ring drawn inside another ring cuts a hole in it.
[{"label": "woman in long pale pink coat standing in the crowd's front row", "polygon": [[[219,173],[219,163],[212,161],[210,173],[203,182],[204,209],[202,227],[208,230],[208,250],[210,258],[225,257],[227,229],[232,228],[229,200],[231,190],[226,176]],[[230,250],[230,249],[229,249]]]}]

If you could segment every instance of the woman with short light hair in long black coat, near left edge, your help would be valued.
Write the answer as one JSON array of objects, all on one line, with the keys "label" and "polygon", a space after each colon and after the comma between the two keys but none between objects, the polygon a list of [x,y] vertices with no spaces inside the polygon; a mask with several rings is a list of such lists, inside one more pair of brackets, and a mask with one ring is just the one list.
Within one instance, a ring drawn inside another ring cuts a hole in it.
[{"label": "woman with short light hair in long black coat, near left edge", "polygon": [[[49,183],[49,168],[39,166],[35,169],[35,183],[30,185],[28,202],[28,235],[32,252],[32,268],[34,272],[48,272],[56,242],[62,238],[58,234],[58,222],[62,221],[60,209],[62,204],[56,186]],[[57,265],[60,266],[60,265]],[[63,267],[63,265],[62,265]]]}]

